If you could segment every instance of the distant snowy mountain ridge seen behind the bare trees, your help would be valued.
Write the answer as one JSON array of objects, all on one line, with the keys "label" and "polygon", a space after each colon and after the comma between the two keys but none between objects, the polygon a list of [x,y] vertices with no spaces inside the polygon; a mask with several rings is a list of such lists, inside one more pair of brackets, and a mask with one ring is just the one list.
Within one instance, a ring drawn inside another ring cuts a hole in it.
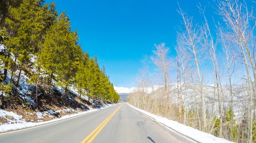
[{"label": "distant snowy mountain ridge seen behind the bare trees", "polygon": [[[200,91],[199,85],[195,85],[191,82],[186,82],[186,83],[181,83],[182,86],[182,102],[185,102],[186,108],[192,109],[194,106],[195,101],[198,102],[198,104],[201,103],[201,96],[200,96]],[[179,86],[180,87],[180,86]],[[174,103],[178,103],[178,93],[177,93],[177,83],[172,83],[168,85],[168,91],[169,94],[171,95],[171,98],[169,100],[173,100]],[[152,88],[147,87],[147,88],[139,88],[139,87],[132,87],[132,88],[124,88],[124,87],[115,87],[115,91],[119,94],[120,99],[125,101],[130,93],[137,92],[137,91],[144,91],[145,96],[148,97],[154,97],[156,95],[158,98],[163,98],[163,93],[164,93],[164,86],[162,85],[155,85],[154,86],[154,91],[155,94],[151,94],[153,92]],[[230,100],[231,100],[231,93],[230,93],[230,87],[229,85],[222,85],[222,92],[223,96],[225,98],[225,106],[227,107],[227,110],[229,108]],[[203,92],[205,96],[205,102],[206,102],[206,107],[207,108],[212,108],[212,104],[215,103],[214,111],[218,112],[218,107],[217,107],[217,102],[218,102],[218,96],[221,99],[222,98],[222,93],[214,93],[214,85],[203,85]],[[248,96],[245,96],[247,94],[246,90],[246,85],[241,84],[241,85],[232,85],[232,95],[233,95],[233,103],[234,109],[237,113],[236,116],[243,116],[243,115],[238,115],[242,114],[243,111],[238,111],[242,106],[249,106],[248,102]],[[242,102],[241,102],[242,101]]]}]

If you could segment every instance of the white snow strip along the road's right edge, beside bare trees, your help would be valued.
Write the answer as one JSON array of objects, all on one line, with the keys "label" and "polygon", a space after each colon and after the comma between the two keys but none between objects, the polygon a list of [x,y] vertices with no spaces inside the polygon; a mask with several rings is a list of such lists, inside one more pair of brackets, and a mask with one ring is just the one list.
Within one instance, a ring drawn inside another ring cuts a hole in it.
[{"label": "white snow strip along the road's right edge, beside bare trees", "polygon": [[[130,104],[128,104],[130,105]],[[160,117],[151,113],[148,113],[144,110],[141,110],[139,108],[136,108],[132,105],[130,105],[132,108],[135,108],[136,110],[148,115],[149,117],[155,119],[155,121],[164,124],[165,126],[187,136],[191,139],[194,139],[195,141],[198,141],[200,143],[234,143],[232,141],[228,141],[226,139],[222,139],[219,137],[215,137],[211,134],[201,132],[200,130],[197,130],[195,128],[191,128],[189,126],[185,126],[183,124],[178,123],[177,121],[172,121],[164,117]]]}]

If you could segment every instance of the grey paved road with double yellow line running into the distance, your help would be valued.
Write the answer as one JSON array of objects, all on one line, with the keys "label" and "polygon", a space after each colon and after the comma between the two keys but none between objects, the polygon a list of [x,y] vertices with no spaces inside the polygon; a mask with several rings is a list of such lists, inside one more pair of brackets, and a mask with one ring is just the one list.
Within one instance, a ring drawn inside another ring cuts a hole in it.
[{"label": "grey paved road with double yellow line running into the distance", "polygon": [[193,143],[126,103],[43,126],[0,134],[0,143],[90,141],[92,143]]}]

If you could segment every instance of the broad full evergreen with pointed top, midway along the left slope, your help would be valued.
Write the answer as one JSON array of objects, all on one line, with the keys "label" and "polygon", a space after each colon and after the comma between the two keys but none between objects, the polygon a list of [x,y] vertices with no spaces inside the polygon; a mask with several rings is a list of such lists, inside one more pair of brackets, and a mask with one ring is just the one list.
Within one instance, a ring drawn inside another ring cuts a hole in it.
[{"label": "broad full evergreen with pointed top, midway along the left slope", "polygon": [[57,80],[61,80],[67,92],[68,85],[74,82],[82,54],[78,45],[78,33],[71,31],[69,18],[64,11],[46,31],[40,52],[45,74],[50,75],[50,80],[53,78],[52,75],[56,74]]}]

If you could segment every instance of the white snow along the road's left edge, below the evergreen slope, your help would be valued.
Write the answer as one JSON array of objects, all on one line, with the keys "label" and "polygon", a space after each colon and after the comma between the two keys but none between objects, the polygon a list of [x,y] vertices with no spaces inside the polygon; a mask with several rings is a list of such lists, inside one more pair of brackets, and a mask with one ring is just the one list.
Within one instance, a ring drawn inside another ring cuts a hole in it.
[{"label": "white snow along the road's left edge, below the evergreen slope", "polygon": [[[8,111],[0,109],[0,117],[6,118],[5,117],[6,115],[11,115],[15,119],[15,121],[11,121],[11,120],[7,119],[8,123],[11,123],[11,124],[0,124],[0,133],[1,132],[12,131],[12,130],[19,130],[19,129],[22,129],[22,128],[29,128],[29,127],[39,126],[39,125],[43,125],[43,124],[48,124],[48,123],[52,123],[52,122],[55,122],[55,121],[60,121],[60,120],[63,120],[63,119],[68,119],[68,118],[71,118],[71,117],[75,117],[75,116],[83,115],[83,114],[90,113],[90,112],[93,112],[93,111],[97,111],[99,109],[106,108],[106,107],[113,106],[113,105],[114,104],[105,104],[104,107],[101,107],[101,108],[90,109],[88,111],[80,112],[80,113],[77,113],[77,114],[65,115],[65,116],[62,116],[62,117],[57,118],[57,119],[52,119],[52,120],[49,120],[49,121],[41,121],[41,122],[37,122],[37,123],[26,122],[24,119],[22,119],[21,115],[17,115],[13,112],[8,112]],[[37,112],[36,115],[39,118],[43,117],[42,113]]]}]

